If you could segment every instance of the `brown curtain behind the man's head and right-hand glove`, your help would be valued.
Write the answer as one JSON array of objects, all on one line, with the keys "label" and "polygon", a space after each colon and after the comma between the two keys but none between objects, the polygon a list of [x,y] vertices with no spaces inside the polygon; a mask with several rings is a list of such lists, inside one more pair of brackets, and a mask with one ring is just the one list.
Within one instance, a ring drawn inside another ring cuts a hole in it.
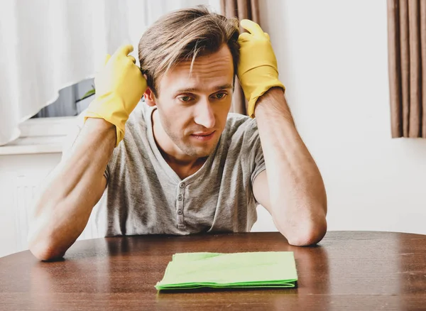
[{"label": "brown curtain behind the man's head and right-hand glove", "polygon": [[[222,15],[251,19],[260,25],[258,0],[221,0]],[[241,28],[240,31],[243,31]],[[244,92],[239,85],[238,78],[235,81],[234,97],[232,97],[231,112],[247,114],[247,103]]]}]

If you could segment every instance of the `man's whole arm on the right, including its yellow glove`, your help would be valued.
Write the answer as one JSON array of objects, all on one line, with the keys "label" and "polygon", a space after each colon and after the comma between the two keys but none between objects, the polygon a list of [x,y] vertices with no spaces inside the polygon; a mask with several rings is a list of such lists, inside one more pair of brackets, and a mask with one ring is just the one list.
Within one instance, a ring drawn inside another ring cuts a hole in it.
[{"label": "man's whole arm on the right, including its yellow glove", "polygon": [[266,172],[253,181],[253,193],[290,244],[315,244],[327,231],[324,183],[285,102],[268,34],[253,21],[240,25],[249,32],[239,36],[238,77],[249,116],[256,112],[266,163]]}]

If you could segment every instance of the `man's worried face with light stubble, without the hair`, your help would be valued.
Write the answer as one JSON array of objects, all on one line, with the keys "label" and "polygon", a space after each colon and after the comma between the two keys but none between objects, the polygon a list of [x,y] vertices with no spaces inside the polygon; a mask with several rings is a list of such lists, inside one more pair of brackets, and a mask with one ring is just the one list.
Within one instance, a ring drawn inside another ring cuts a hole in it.
[{"label": "man's worried face with light stubble, without the hair", "polygon": [[173,148],[206,157],[217,146],[231,107],[234,67],[224,45],[211,55],[173,67],[158,81],[160,122]]}]

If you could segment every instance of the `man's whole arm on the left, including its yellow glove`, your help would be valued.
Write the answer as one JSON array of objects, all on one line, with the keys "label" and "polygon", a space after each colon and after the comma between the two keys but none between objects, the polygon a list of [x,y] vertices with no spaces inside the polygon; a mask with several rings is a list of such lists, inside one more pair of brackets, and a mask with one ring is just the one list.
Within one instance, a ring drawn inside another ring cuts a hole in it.
[{"label": "man's whole arm on the left, including its yellow glove", "polygon": [[124,45],[107,55],[96,75],[96,97],[84,114],[85,124],[71,151],[40,192],[28,242],[33,254],[62,257],[86,227],[107,185],[104,171],[125,124],[146,90],[146,79]]}]

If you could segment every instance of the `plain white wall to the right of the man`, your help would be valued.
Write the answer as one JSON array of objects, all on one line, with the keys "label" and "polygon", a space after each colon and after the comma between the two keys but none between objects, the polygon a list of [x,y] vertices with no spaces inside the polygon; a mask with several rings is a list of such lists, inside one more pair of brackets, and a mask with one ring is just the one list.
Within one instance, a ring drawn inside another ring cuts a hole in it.
[{"label": "plain white wall to the right of the man", "polygon": [[426,139],[391,139],[386,1],[263,3],[290,108],[327,187],[329,229],[426,234]]}]

